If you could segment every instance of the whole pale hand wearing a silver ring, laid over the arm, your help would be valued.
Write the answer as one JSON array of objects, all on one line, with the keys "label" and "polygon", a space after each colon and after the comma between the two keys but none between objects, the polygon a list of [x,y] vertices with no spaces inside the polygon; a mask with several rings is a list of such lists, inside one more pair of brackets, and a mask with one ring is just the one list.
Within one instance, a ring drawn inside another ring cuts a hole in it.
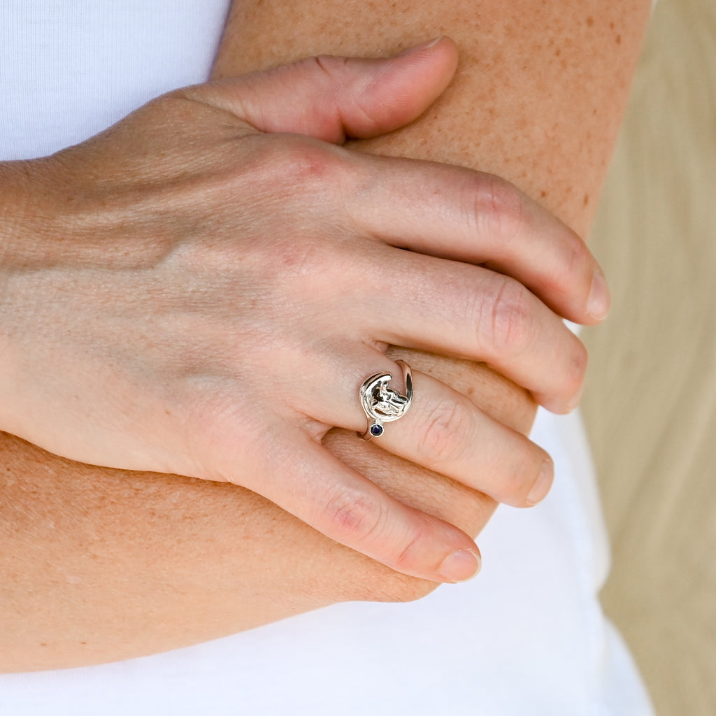
[{"label": "whole pale hand wearing a silver ring, laid over the arm", "polygon": [[[497,178],[326,143],[404,125],[454,69],[448,42],[309,60],[4,167],[22,211],[0,274],[2,427],[86,463],[240,482],[394,569],[470,576],[468,536],[320,445],[365,429],[358,388],[398,374],[389,343],[487,361],[553,410],[579,394],[584,349],[557,314],[598,319],[606,293],[574,233]],[[384,448],[499,500],[543,497],[539,448],[414,379]]]}]

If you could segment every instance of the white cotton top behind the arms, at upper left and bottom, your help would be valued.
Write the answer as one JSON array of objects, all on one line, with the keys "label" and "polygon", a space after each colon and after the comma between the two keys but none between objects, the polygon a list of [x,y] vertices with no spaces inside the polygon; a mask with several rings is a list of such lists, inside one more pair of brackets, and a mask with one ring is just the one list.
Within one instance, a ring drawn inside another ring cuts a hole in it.
[{"label": "white cotton top behind the arms, at upper left and bottom", "polygon": [[[203,81],[227,10],[227,0],[4,0],[0,160],[51,153]],[[1,675],[0,714],[652,714],[597,600],[608,553],[579,416],[540,412],[533,439],[554,458],[554,487],[536,508],[498,510],[477,579],[154,657]]]}]

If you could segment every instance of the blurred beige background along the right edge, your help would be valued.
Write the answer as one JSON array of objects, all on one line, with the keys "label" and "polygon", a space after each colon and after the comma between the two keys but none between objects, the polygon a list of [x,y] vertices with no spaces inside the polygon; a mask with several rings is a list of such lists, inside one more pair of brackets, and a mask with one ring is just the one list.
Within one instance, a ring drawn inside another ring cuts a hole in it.
[{"label": "blurred beige background along the right edge", "polygon": [[614,309],[584,412],[607,613],[659,715],[716,715],[716,1],[660,0],[591,240]]}]

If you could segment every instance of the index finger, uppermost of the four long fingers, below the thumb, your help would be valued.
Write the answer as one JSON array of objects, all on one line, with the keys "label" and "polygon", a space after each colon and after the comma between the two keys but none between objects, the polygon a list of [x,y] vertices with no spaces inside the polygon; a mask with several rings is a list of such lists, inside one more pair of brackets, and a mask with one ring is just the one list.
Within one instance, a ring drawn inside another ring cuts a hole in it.
[{"label": "index finger, uppermost of the four long fingers, below the thumb", "polygon": [[357,155],[346,208],[359,229],[392,246],[513,276],[576,323],[609,311],[609,289],[584,241],[514,185],[437,163]]}]

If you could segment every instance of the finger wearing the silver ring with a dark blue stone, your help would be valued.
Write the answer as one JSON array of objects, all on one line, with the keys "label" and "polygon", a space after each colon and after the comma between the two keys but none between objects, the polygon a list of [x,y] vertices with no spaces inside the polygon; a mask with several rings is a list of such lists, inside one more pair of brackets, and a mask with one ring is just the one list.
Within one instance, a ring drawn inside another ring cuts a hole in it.
[{"label": "finger wearing the silver ring with a dark blue stone", "polygon": [[[402,369],[377,352],[346,364],[342,379],[322,388],[322,400],[311,407],[316,420],[363,434],[368,420],[360,385],[374,374],[390,374],[387,387],[404,395]],[[352,379],[346,379],[347,373]],[[375,438],[382,448],[508,505],[528,507],[546,497],[553,465],[542,448],[439,380],[414,371],[412,383],[410,408],[400,419],[385,422]]]}]

